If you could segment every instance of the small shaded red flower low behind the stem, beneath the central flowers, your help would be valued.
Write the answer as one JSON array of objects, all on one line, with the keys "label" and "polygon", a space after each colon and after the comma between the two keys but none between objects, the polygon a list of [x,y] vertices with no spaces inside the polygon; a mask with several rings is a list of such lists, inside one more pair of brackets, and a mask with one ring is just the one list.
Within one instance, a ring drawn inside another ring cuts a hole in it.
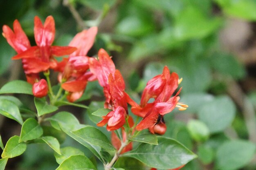
[{"label": "small shaded red flower low behind the stem, beneath the central flowers", "polygon": [[[129,126],[130,128],[134,125],[134,122],[133,122],[133,119],[131,116],[128,117],[128,123],[129,123]],[[124,130],[124,128],[122,127],[122,138],[123,138],[123,141],[126,141],[126,132]],[[121,141],[120,139],[117,137],[116,133],[112,131],[111,133],[111,142],[113,144],[113,146],[119,150],[119,148],[121,147]],[[128,152],[132,150],[132,142],[130,144],[128,144],[126,147],[124,147],[124,149],[120,152],[120,154],[122,153],[125,153],[125,152]]]}]

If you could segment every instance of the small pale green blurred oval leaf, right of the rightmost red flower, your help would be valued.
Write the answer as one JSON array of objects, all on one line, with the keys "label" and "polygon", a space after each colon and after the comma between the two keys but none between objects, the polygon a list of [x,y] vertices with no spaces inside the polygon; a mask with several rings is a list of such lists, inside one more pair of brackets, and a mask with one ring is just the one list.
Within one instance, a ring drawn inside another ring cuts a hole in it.
[{"label": "small pale green blurred oval leaf, right of the rightmost red flower", "polygon": [[202,121],[191,119],[188,122],[187,128],[195,141],[202,142],[209,138],[210,131]]}]

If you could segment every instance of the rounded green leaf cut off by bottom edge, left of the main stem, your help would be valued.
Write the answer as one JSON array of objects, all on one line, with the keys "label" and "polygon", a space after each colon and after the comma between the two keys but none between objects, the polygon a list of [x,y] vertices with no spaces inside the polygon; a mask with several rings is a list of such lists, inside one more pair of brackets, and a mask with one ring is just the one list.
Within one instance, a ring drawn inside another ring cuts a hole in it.
[{"label": "rounded green leaf cut off by bottom edge, left of the main stem", "polygon": [[73,155],[65,159],[56,170],[97,170],[93,163],[83,155]]}]

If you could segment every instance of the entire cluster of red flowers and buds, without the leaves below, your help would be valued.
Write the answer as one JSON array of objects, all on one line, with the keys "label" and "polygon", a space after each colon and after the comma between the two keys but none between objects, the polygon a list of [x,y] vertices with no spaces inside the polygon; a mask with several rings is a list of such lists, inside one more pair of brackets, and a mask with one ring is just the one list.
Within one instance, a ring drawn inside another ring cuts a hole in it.
[{"label": "entire cluster of red flowers and buds, without the leaves below", "polygon": [[[97,58],[88,57],[87,53],[94,44],[97,27],[83,30],[76,34],[68,46],[53,46],[55,38],[55,24],[52,16],[48,16],[43,24],[38,17],[34,18],[34,37],[36,46],[31,46],[27,35],[22,30],[18,20],[13,23],[13,31],[9,26],[3,26],[3,35],[7,42],[18,53],[13,60],[22,59],[22,66],[27,82],[33,84],[35,97],[53,97],[50,91],[49,69],[58,72],[58,81],[61,89],[66,91],[69,102],[79,99],[90,81],[98,80],[103,87],[106,98],[104,108],[111,111],[102,117],[97,124],[104,126],[108,131],[121,128],[122,139],[126,141],[128,129],[130,135],[137,131],[149,129],[151,133],[163,135],[166,132],[164,115],[175,107],[186,110],[186,104],[179,102],[180,90],[173,96],[182,81],[177,73],[170,73],[167,66],[162,74],[150,79],[142,93],[140,104],[133,101],[125,92],[125,81],[120,71],[115,68],[111,57],[104,49],[100,49]],[[58,62],[55,57],[69,55]],[[40,79],[43,72],[45,79]],[[62,91],[60,91],[62,92]],[[149,102],[153,99],[153,102]],[[131,112],[142,120],[137,124],[128,113],[128,104]],[[134,125],[137,124],[137,125]],[[121,147],[121,140],[112,132],[112,144],[115,148]],[[128,144],[120,153],[132,149]],[[181,167],[180,167],[181,168]],[[153,170],[153,169],[152,169]]]}]

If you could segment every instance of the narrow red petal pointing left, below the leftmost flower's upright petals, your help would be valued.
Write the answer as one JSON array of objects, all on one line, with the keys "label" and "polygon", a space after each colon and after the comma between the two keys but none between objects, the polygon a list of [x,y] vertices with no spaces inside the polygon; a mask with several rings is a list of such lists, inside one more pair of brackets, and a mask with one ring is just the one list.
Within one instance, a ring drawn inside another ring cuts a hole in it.
[{"label": "narrow red petal pointing left, below the leftmost flower's upright petals", "polygon": [[26,51],[23,51],[22,53],[19,53],[12,57],[12,60],[18,60],[21,58],[38,58],[40,57],[40,49],[38,46],[31,46],[29,49]]}]

